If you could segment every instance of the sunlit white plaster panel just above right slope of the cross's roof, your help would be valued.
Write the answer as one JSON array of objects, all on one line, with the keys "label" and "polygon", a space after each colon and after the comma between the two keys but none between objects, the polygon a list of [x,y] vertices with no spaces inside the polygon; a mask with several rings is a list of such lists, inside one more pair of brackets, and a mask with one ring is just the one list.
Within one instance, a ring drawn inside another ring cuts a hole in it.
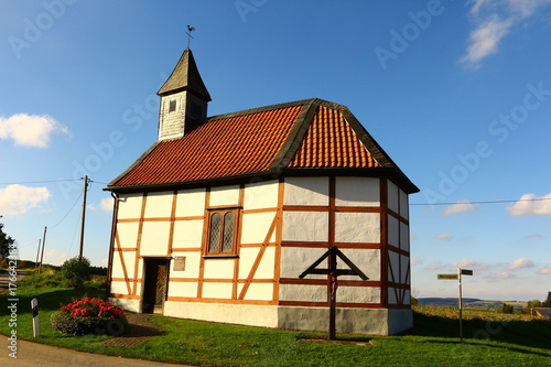
[{"label": "sunlit white plaster panel just above right slope of the cross's roof", "polygon": [[336,242],[380,242],[379,213],[335,213]]}]

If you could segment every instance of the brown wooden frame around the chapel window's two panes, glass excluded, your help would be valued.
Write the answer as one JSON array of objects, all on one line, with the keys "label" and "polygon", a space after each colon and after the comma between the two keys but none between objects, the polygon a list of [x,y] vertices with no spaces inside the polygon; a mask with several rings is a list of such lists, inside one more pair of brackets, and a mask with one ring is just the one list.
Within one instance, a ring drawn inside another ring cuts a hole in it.
[{"label": "brown wooden frame around the chapel window's two panes, glass excluded", "polygon": [[[224,231],[226,226],[226,215],[228,213],[234,214],[234,233],[231,235],[231,251],[224,252]],[[210,251],[210,238],[213,237],[212,225],[213,225],[213,216],[218,214],[220,216],[220,226],[218,233],[218,251]],[[235,258],[238,256],[237,253],[237,240],[239,233],[239,219],[241,214],[241,207],[216,207],[216,208],[207,208],[207,226],[206,226],[206,235],[203,245],[203,257],[204,258]]]}]

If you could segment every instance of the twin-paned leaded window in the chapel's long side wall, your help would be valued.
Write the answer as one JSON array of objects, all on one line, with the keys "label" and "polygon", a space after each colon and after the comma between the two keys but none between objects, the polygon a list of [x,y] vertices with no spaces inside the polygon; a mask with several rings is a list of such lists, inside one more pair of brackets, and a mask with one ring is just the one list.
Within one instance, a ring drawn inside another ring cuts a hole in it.
[{"label": "twin-paned leaded window in the chapel's long side wall", "polygon": [[236,255],[238,209],[210,211],[206,255]]}]

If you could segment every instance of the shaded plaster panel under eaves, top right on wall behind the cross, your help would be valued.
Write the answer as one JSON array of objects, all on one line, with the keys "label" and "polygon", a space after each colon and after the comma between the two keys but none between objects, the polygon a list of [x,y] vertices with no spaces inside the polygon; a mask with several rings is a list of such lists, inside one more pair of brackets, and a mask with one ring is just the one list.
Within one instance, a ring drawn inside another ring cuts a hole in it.
[{"label": "shaded plaster panel under eaves, top right on wall behind the cross", "polygon": [[379,179],[336,177],[336,206],[379,206]]}]

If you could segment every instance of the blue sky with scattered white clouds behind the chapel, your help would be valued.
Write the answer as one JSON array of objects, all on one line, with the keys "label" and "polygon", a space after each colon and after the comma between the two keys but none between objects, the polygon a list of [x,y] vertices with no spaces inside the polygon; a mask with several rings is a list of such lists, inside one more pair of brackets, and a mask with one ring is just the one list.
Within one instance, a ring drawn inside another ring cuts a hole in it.
[{"label": "blue sky with scattered white clouds behind the chapel", "polygon": [[457,267],[465,296],[551,291],[548,0],[0,0],[0,215],[21,258],[44,226],[45,261],[77,255],[87,174],[85,256],[106,265],[101,188],[156,139],[187,24],[209,115],[348,106],[421,188],[415,296],[455,296],[436,274]]}]

